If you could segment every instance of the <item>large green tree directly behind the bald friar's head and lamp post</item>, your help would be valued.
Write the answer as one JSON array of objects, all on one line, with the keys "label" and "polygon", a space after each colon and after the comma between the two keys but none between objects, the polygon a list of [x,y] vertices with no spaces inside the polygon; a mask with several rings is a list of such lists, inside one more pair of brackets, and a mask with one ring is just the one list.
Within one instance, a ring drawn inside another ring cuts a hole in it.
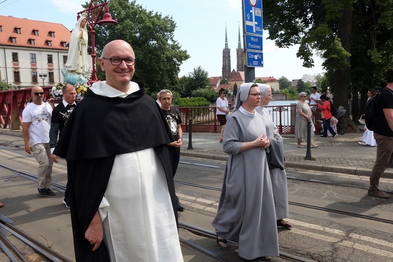
[{"label": "large green tree directly behind the bald friar's head and lamp post", "polygon": [[[95,4],[104,2],[106,0],[98,0]],[[87,8],[88,4],[84,7]],[[163,86],[175,86],[180,65],[190,55],[175,40],[176,23],[172,16],[147,11],[135,0],[109,1],[109,10],[112,18],[119,24],[96,26],[97,57],[100,57],[100,52],[107,43],[122,39],[133,47],[137,59],[133,81],[145,83],[153,93]]]}]

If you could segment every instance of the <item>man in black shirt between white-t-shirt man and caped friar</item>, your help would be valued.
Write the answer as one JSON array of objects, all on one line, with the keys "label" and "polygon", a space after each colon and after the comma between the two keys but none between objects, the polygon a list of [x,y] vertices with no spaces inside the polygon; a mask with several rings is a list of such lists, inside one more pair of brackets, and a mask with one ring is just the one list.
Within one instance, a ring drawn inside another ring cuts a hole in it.
[{"label": "man in black shirt between white-t-shirt man and caped friar", "polygon": [[[69,116],[72,113],[72,110],[77,106],[75,103],[75,99],[77,98],[77,91],[75,87],[71,84],[65,84],[62,87],[63,91],[63,101],[58,104],[52,111],[52,120],[50,124],[49,130],[49,145],[50,152],[53,153],[54,147],[57,144],[58,135],[59,137],[62,134],[63,128],[67,123]],[[58,162],[59,157],[52,154],[52,159],[55,162]],[[68,188],[68,186],[67,186]],[[68,199],[68,190],[66,189],[64,194],[63,203],[69,208],[69,199]]]}]

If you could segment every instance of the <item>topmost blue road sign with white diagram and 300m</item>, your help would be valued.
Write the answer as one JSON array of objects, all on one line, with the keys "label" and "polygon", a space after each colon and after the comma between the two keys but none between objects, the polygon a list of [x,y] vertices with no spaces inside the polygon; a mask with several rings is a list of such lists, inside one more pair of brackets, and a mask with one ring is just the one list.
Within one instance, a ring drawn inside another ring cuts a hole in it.
[{"label": "topmost blue road sign with white diagram and 300m", "polygon": [[262,35],[262,0],[243,1],[246,33]]}]

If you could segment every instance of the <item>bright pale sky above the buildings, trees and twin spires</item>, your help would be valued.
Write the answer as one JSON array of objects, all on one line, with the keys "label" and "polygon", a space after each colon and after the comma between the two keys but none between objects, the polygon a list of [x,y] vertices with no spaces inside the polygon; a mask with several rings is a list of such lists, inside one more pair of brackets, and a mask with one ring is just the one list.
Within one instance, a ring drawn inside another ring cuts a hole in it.
[{"label": "bright pale sky above the buildings, trees and twin spires", "polygon": [[[72,30],[77,23],[77,12],[83,10],[82,4],[86,1],[0,0],[0,15],[59,23]],[[191,56],[180,66],[179,77],[188,75],[198,66],[208,71],[209,77],[219,77],[226,28],[232,69],[236,70],[239,26],[242,41],[242,1],[247,0],[137,0],[136,3],[148,11],[172,16],[175,21],[174,39]],[[278,48],[266,39],[267,31],[263,34],[264,67],[255,68],[255,77],[279,79],[284,76],[291,81],[302,78],[303,74],[325,72],[322,60],[316,55],[315,66],[305,68],[296,58],[297,46]],[[244,47],[242,42],[241,46]]]}]

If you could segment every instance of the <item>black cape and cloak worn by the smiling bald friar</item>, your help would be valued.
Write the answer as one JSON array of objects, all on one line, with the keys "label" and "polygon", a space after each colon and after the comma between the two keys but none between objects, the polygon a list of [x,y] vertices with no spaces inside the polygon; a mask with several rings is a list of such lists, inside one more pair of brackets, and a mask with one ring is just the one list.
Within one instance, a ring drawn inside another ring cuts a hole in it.
[{"label": "black cape and cloak worn by the smiling bald friar", "polygon": [[88,90],[73,110],[53,154],[66,158],[68,190],[77,261],[109,261],[101,242],[93,252],[85,232],[104,196],[116,155],[154,148],[165,172],[177,222],[175,188],[167,143],[174,141],[157,103],[140,90],[125,98]]}]

